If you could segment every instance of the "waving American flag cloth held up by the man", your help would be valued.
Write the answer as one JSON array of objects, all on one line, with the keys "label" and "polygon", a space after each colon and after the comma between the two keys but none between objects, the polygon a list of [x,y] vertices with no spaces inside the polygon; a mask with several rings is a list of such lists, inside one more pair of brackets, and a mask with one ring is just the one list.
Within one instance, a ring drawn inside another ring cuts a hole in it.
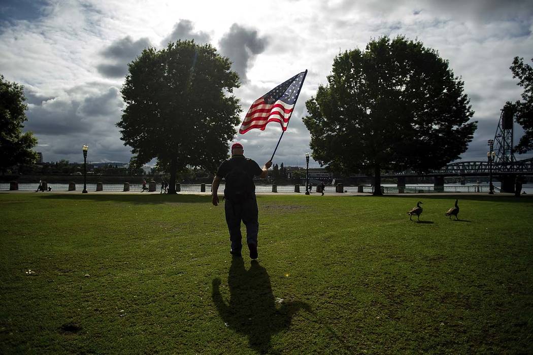
[{"label": "waving American flag cloth held up by the man", "polygon": [[254,128],[264,130],[269,122],[279,122],[281,129],[287,130],[290,115],[293,113],[306,74],[307,70],[296,74],[255,100],[246,113],[239,133],[245,134]]}]

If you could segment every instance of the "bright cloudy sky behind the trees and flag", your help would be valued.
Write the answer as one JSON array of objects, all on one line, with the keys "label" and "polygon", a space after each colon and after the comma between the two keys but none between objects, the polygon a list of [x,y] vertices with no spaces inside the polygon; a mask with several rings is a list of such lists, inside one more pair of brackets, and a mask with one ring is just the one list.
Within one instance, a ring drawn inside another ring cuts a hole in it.
[{"label": "bright cloudy sky behind the trees and flag", "polygon": [[[464,80],[479,124],[462,158],[482,160],[500,109],[522,93],[509,67],[514,56],[531,64],[532,30],[533,6],[514,0],[2,0],[0,73],[25,86],[26,129],[36,134],[45,161],[83,161],[81,147],[87,144],[90,161],[128,162],[130,148],[115,123],[124,108],[126,64],[143,48],[180,38],[211,43],[241,77],[236,95],[244,113],[256,98],[308,69],[274,158],[303,166],[310,140],[301,120],[304,103],[326,83],[334,57],[379,36],[405,35],[437,49]],[[522,131],[516,128],[518,142]],[[280,133],[270,123],[265,131],[236,139],[262,163]]]}]

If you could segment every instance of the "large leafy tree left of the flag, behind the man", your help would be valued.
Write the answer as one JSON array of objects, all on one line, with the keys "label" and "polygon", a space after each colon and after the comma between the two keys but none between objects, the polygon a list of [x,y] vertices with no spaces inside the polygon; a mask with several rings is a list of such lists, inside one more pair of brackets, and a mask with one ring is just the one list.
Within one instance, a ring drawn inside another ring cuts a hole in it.
[{"label": "large leafy tree left of the flag, behind the man", "polygon": [[215,171],[228,157],[241,112],[232,95],[239,76],[230,67],[211,45],[193,41],[144,49],[128,64],[121,139],[139,163],[157,158],[158,169],[170,173],[168,193],[175,193],[177,171]]}]

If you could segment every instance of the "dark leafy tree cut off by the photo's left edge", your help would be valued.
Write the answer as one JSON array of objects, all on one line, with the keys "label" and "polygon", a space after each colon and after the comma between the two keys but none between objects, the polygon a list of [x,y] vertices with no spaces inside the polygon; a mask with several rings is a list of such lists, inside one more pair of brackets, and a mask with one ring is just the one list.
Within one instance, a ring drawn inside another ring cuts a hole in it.
[{"label": "dark leafy tree cut off by the photo's left edge", "polygon": [[4,80],[0,75],[0,170],[16,164],[33,164],[37,153],[31,150],[37,138],[31,132],[22,133],[27,121],[23,86]]}]

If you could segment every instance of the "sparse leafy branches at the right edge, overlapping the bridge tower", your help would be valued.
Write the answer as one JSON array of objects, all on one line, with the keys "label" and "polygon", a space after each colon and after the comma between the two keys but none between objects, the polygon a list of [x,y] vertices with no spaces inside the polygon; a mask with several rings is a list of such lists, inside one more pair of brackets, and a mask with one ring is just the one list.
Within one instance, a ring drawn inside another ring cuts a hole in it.
[{"label": "sparse leafy branches at the right edge, overlapping the bridge tower", "polygon": [[520,79],[516,85],[524,88],[521,95],[523,101],[516,101],[512,108],[515,111],[516,122],[520,123],[525,131],[515,147],[515,150],[522,154],[533,150],[533,68],[524,63],[523,58],[514,57],[513,65],[509,69],[513,72],[513,78]]}]

